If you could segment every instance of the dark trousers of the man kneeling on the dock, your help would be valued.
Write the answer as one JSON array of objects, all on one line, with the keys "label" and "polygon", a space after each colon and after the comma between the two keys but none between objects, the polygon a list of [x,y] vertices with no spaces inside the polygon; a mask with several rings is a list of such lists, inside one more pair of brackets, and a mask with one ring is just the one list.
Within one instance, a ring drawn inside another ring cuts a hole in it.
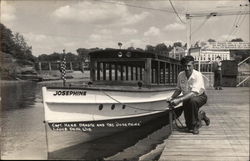
[{"label": "dark trousers of the man kneeling on the dock", "polygon": [[199,108],[207,102],[207,95],[205,93],[192,97],[183,102],[184,117],[188,129],[194,129],[199,122]]}]

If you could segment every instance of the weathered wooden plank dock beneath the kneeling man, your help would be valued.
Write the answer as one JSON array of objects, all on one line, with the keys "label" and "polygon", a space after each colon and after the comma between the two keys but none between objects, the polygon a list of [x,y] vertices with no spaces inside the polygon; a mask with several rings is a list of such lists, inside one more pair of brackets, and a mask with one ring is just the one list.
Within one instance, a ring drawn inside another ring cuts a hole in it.
[{"label": "weathered wooden plank dock beneath the kneeling man", "polygon": [[[202,109],[210,126],[203,122],[199,135],[174,127],[159,161],[249,161],[249,93],[247,87],[207,90]],[[185,124],[183,114],[180,119]]]}]

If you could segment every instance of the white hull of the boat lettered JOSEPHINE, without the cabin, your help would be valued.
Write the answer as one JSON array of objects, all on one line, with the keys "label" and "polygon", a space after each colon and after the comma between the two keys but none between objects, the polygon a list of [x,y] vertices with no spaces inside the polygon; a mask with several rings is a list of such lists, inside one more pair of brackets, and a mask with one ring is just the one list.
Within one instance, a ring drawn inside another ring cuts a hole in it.
[{"label": "white hull of the boat lettered JOSEPHINE, without the cabin", "polygon": [[[49,158],[82,158],[62,154],[66,154],[65,149],[74,154],[79,152],[76,148],[79,145],[119,132],[146,126],[154,129],[149,126],[152,123],[168,124],[169,109],[165,99],[172,93],[173,90],[138,93],[43,87]],[[180,106],[175,109],[177,116],[180,109]]]}]

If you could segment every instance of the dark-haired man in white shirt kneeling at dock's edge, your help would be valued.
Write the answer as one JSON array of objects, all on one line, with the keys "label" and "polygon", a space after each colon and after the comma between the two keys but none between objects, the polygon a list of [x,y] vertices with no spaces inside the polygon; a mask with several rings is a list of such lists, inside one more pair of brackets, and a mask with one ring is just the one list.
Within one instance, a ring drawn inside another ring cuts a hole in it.
[{"label": "dark-haired man in white shirt kneeling at dock's edge", "polygon": [[[186,126],[189,132],[199,134],[201,120],[204,120],[207,126],[210,124],[210,119],[205,112],[199,112],[199,108],[207,102],[204,80],[202,74],[194,69],[192,56],[182,58],[181,65],[184,71],[178,75],[177,89],[167,101],[172,105],[183,102]],[[181,93],[183,95],[180,95]]]}]

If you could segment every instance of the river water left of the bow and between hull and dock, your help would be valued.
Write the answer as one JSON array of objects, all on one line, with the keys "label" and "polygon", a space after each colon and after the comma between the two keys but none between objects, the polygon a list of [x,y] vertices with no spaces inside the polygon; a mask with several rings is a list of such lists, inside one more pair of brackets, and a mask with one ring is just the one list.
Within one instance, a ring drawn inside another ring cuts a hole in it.
[{"label": "river water left of the bow and between hull and dock", "polygon": [[[41,85],[2,82],[1,97],[1,159],[47,159]],[[168,134],[168,126],[154,122],[144,129],[81,145],[82,159],[139,160],[163,143]],[[59,154],[61,159],[63,154],[65,151]]]}]

